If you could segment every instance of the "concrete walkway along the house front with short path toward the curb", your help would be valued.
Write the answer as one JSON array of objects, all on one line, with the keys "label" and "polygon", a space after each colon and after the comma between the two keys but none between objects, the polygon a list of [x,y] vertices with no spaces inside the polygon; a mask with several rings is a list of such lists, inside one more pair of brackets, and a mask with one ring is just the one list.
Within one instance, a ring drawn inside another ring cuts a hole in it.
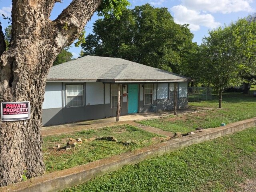
[{"label": "concrete walkway along the house front with short path toward the curb", "polygon": [[[177,114],[199,112],[202,110],[211,110],[211,108],[190,107],[190,108],[186,108],[186,109],[177,110]],[[132,122],[134,120],[160,118],[160,117],[164,117],[164,116],[170,116],[173,113],[174,113],[173,111],[136,113],[136,114],[131,114],[131,115],[120,116],[119,122],[116,122],[116,117],[113,117],[113,118],[104,118],[104,119],[99,119],[99,120],[74,122],[74,123],[62,124],[62,125],[57,125],[57,126],[46,126],[46,127],[42,127],[42,136],[71,133],[71,132],[77,132],[77,131],[88,130],[88,129],[98,129],[98,128],[102,128],[102,127],[106,127],[106,126],[134,124],[134,122]],[[161,134],[161,135],[165,135],[165,136],[172,136],[172,132],[166,132],[166,131],[160,130],[158,128],[151,128],[151,127],[142,126],[142,125],[139,126],[139,124],[136,124],[134,126],[138,126],[142,129],[152,132],[152,133]]]}]

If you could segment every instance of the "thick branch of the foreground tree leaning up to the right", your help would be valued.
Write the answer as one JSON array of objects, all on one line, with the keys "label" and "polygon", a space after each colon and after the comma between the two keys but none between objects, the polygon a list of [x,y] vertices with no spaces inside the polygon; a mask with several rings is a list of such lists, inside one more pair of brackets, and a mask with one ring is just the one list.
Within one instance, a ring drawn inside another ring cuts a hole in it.
[{"label": "thick branch of the foreground tree leaning up to the right", "polygon": [[58,46],[64,48],[72,44],[101,3],[102,0],[73,0],[53,21],[58,33]]}]

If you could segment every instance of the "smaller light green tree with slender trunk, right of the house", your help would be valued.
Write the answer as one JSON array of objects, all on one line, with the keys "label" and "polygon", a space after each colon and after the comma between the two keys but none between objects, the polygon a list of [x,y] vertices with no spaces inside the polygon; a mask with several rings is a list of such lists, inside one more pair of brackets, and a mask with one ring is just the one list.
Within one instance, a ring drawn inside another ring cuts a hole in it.
[{"label": "smaller light green tree with slender trunk, right of the house", "polygon": [[256,23],[246,18],[209,32],[200,46],[200,80],[212,84],[219,95],[227,86],[241,84],[246,71],[255,72]]}]

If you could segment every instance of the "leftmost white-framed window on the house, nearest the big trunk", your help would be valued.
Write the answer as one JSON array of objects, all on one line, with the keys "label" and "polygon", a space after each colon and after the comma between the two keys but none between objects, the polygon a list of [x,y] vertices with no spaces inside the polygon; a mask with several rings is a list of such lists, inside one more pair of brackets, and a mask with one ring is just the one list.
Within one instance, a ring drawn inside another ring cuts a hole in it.
[{"label": "leftmost white-framed window on the house, nearest the big trunk", "polygon": [[66,85],[66,106],[83,106],[84,86],[81,84]]}]

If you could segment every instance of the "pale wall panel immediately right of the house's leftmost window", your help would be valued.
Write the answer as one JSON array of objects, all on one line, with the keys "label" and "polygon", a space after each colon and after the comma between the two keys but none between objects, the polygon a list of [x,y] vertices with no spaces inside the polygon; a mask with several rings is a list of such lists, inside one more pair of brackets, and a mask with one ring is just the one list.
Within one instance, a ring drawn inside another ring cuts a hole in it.
[{"label": "pale wall panel immediately right of the house's leftmost window", "polygon": [[104,84],[102,82],[86,82],[86,105],[104,104]]}]

